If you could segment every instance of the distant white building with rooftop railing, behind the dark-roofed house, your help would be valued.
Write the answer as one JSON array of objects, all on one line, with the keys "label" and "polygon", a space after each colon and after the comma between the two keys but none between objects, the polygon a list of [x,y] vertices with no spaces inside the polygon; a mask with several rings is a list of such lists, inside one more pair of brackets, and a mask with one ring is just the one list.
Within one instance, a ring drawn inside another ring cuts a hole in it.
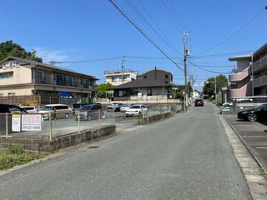
[{"label": "distant white building with rooftop railing, behind the dark-roofed house", "polygon": [[123,83],[128,83],[129,81],[133,81],[138,76],[137,71],[133,70],[124,70],[119,71],[104,71],[104,77],[106,77],[106,83],[111,83],[113,86],[119,86]]}]

